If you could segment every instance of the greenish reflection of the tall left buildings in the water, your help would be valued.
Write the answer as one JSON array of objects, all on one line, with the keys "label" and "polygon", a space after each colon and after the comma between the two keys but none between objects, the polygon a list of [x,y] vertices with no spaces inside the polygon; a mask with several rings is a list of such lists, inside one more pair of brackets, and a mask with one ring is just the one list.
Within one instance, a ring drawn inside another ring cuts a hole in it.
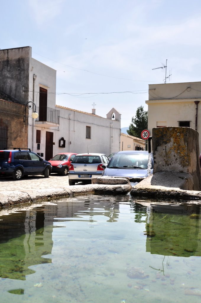
[{"label": "greenish reflection of the tall left buildings in the water", "polygon": [[53,218],[45,209],[1,217],[0,277],[25,280],[25,275],[34,273],[29,266],[51,263],[41,256],[51,254]]}]

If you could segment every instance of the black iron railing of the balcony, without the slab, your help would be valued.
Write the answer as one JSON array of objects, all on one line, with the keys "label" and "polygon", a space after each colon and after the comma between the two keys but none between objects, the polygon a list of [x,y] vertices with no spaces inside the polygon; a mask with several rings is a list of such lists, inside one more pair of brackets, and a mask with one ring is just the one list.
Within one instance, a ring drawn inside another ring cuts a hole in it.
[{"label": "black iron railing of the balcony, without the slab", "polygon": [[60,111],[47,106],[39,106],[36,108],[38,118],[36,121],[46,121],[59,124]]}]

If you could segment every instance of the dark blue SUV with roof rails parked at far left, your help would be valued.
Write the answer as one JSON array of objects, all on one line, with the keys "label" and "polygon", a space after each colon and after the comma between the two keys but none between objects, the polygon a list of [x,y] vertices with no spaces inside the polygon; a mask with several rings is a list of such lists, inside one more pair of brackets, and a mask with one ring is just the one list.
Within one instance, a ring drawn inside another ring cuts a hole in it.
[{"label": "dark blue SUV with roof rails parked at far left", "polygon": [[21,148],[0,150],[0,175],[10,175],[14,180],[22,176],[51,174],[51,163],[43,160],[33,151]]}]

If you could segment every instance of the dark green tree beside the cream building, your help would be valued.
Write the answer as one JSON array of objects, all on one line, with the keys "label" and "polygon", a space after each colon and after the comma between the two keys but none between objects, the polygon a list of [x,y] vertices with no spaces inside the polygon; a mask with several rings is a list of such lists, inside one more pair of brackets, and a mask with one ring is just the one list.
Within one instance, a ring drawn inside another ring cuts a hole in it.
[{"label": "dark green tree beside the cream building", "polygon": [[127,133],[130,136],[137,138],[141,137],[141,132],[147,129],[148,126],[148,111],[144,111],[144,107],[141,105],[137,108],[135,118],[132,117],[132,122],[129,125]]}]

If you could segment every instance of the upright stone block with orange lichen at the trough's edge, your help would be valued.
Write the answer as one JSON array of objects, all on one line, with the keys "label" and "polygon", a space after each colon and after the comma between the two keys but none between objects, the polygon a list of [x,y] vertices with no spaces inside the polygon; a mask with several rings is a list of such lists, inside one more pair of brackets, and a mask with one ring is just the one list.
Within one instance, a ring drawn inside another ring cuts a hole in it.
[{"label": "upright stone block with orange lichen at the trough's edge", "polygon": [[186,173],[192,190],[201,189],[198,132],[189,127],[160,127],[152,130],[153,174]]}]

